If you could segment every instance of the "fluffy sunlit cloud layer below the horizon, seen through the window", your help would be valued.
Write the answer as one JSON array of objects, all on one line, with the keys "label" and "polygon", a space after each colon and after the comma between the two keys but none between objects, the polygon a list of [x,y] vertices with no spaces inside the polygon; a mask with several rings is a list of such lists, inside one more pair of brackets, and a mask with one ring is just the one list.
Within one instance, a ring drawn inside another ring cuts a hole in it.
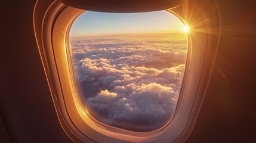
[{"label": "fluffy sunlit cloud layer below the horizon, seen through the window", "polygon": [[104,117],[104,123],[151,126],[172,116],[184,73],[186,43],[88,39],[71,44],[86,103]]}]

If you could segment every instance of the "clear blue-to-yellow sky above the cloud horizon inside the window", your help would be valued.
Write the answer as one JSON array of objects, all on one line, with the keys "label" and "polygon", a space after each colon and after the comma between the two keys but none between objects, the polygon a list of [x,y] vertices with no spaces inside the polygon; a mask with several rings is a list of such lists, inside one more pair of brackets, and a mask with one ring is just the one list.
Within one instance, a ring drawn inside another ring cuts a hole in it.
[{"label": "clear blue-to-yellow sky above the cloud horizon inside the window", "polygon": [[167,11],[147,13],[100,13],[87,11],[74,21],[71,37],[183,30],[184,24]]}]

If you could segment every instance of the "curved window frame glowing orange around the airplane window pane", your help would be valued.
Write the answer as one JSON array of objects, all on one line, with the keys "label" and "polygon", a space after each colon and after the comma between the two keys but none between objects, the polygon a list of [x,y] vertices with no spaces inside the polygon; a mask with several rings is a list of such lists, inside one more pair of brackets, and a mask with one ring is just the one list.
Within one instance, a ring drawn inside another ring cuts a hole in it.
[{"label": "curved window frame glowing orange around the airplane window pane", "polygon": [[[180,10],[167,10],[181,20]],[[73,21],[85,10],[58,1],[38,1],[34,10],[34,30],[55,110],[61,126],[75,142],[182,142],[191,132],[208,85],[218,43],[218,14],[201,14],[205,32],[188,35],[189,48],[183,84],[171,121],[152,132],[134,132],[103,125],[84,108],[73,77],[69,50],[69,30]],[[207,11],[207,10],[206,10]],[[176,13],[175,13],[176,12]],[[192,14],[193,15],[193,14]],[[210,20],[206,18],[210,17]]]}]

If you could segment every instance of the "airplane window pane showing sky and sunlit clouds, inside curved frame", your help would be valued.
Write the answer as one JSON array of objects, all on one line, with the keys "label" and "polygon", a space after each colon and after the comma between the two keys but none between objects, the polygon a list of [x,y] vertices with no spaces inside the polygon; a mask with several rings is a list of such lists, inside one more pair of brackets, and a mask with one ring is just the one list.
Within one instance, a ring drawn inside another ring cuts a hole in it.
[{"label": "airplane window pane showing sky and sunlit clouds, inside curved frame", "polygon": [[117,128],[165,126],[183,82],[188,30],[168,11],[79,15],[69,41],[84,108]]}]

